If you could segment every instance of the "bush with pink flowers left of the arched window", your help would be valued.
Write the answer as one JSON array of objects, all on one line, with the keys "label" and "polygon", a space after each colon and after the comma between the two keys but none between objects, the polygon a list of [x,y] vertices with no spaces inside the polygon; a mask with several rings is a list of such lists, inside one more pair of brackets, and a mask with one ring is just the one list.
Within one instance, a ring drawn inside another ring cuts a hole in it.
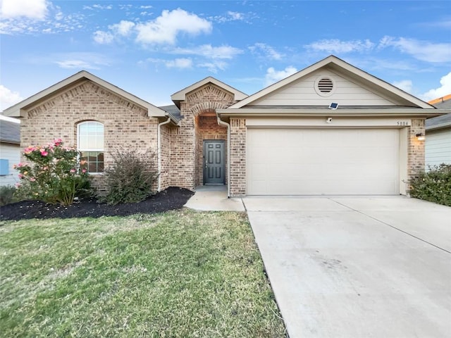
[{"label": "bush with pink flowers left of the arched window", "polygon": [[23,151],[29,163],[19,163],[18,193],[26,192],[31,199],[41,199],[51,204],[68,206],[75,196],[89,193],[89,176],[80,163],[79,152],[73,147],[63,147],[61,139],[47,146],[29,146]]}]

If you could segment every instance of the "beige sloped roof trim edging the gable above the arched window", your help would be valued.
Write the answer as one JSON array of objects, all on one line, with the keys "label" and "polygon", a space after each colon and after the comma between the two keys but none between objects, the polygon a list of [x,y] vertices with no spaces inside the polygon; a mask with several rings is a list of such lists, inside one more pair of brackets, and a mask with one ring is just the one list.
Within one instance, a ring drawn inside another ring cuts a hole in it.
[{"label": "beige sloped roof trim edging the gable above the arched window", "polygon": [[[132,101],[133,103],[137,104],[138,106],[142,106],[142,108],[147,109],[147,114],[152,117],[164,117],[168,116],[168,113],[166,111],[163,111],[161,108],[158,108],[157,106],[154,106],[153,104],[149,104],[149,102],[144,101],[140,99],[139,97],[130,94],[129,92],[125,92],[125,90],[116,87],[115,85],[106,82],[104,80],[101,80],[101,78],[92,75],[91,73],[87,72],[86,70],[82,70],[65,80],[62,80],[61,82],[58,82],[54,84],[51,87],[48,87],[47,89],[42,90],[41,92],[30,96],[29,98],[20,101],[18,104],[11,106],[10,108],[7,108],[4,110],[4,115],[6,116],[13,116],[13,117],[24,117],[25,116],[25,110],[28,107],[34,106],[38,104],[41,101],[44,101],[49,98],[49,96],[52,96],[58,92],[63,92],[68,87],[73,86],[74,84],[80,83],[85,80],[90,80],[94,82],[95,84],[99,85],[100,87],[104,87],[104,89],[109,90],[110,92],[113,92],[114,94],[117,94],[118,96],[122,96],[123,98],[127,99],[128,101]],[[174,121],[175,123],[178,123],[178,121]]]}]

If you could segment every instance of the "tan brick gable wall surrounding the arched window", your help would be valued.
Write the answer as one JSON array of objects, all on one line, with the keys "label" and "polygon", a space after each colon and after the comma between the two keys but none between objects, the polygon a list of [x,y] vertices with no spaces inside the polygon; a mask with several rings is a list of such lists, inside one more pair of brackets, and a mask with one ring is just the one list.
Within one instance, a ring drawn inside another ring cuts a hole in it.
[{"label": "tan brick gable wall surrounding the arched window", "polygon": [[[147,110],[87,80],[51,97],[27,111],[22,120],[22,148],[47,144],[61,138],[66,145],[77,145],[77,125],[86,120],[104,124],[105,164],[111,165],[114,149],[151,148],[156,152],[158,120]],[[99,192],[104,191],[102,175],[92,175]]]}]

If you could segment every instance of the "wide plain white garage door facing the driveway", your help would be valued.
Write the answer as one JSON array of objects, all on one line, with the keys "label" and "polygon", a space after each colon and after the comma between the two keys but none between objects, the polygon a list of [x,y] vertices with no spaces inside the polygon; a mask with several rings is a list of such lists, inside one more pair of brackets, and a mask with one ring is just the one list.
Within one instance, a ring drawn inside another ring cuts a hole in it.
[{"label": "wide plain white garage door facing the driveway", "polygon": [[247,194],[398,194],[395,129],[247,130]]}]

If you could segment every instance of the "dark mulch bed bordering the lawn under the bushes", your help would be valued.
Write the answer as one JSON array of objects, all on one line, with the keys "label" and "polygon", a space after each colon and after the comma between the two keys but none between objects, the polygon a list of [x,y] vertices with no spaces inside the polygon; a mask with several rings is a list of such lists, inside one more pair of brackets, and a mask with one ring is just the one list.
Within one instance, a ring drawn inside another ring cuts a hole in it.
[{"label": "dark mulch bed bordering the lawn under the bushes", "polygon": [[78,218],[125,216],[135,213],[161,213],[182,208],[194,192],[169,187],[145,201],[109,206],[95,199],[82,199],[72,206],[46,204],[42,201],[22,201],[0,207],[0,220],[29,220],[33,218]]}]

